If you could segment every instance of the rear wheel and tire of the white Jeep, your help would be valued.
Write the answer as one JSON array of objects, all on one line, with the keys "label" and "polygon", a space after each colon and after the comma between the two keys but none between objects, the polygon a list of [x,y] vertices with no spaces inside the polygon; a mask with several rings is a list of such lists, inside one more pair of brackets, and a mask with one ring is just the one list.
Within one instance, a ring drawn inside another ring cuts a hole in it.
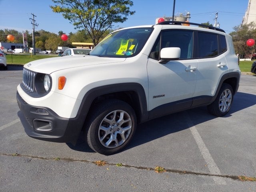
[{"label": "rear wheel and tire of the white Jeep", "polygon": [[208,111],[218,117],[226,115],[233,103],[234,91],[230,84],[222,84],[218,96],[207,106]]}]

